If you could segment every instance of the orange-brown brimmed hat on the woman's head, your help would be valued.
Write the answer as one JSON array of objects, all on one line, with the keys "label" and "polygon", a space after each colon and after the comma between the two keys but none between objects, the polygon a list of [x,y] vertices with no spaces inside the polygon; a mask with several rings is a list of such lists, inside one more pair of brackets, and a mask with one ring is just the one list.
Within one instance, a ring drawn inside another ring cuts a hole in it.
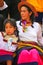
[{"label": "orange-brown brimmed hat on the woman's head", "polygon": [[29,7],[33,11],[35,16],[38,15],[38,13],[37,13],[36,9],[34,8],[34,6],[31,5],[30,3],[26,2],[26,0],[22,0],[21,2],[18,3],[19,12],[20,12],[21,6],[23,6],[23,5],[26,5],[27,7]]}]

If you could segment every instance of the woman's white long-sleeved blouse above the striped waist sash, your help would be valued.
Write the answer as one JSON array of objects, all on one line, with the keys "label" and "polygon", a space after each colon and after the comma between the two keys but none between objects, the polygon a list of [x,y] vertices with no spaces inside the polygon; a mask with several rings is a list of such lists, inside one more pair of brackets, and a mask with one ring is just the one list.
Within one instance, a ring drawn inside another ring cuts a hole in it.
[{"label": "woman's white long-sleeved blouse above the striped waist sash", "polygon": [[17,27],[21,41],[35,41],[39,45],[43,45],[41,27],[37,22],[33,23],[33,27],[28,26],[26,32],[23,32],[23,27],[20,25],[20,21],[17,21]]}]

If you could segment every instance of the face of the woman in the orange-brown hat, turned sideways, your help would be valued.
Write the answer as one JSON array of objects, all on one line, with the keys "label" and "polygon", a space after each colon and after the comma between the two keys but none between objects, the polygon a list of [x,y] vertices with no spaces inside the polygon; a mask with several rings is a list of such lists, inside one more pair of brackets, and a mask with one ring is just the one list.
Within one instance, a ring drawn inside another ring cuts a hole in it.
[{"label": "face of the woman in the orange-brown hat, turned sideways", "polygon": [[27,19],[30,18],[30,15],[29,15],[30,13],[29,13],[28,9],[25,6],[21,7],[20,14],[21,14],[22,20],[27,20]]}]

